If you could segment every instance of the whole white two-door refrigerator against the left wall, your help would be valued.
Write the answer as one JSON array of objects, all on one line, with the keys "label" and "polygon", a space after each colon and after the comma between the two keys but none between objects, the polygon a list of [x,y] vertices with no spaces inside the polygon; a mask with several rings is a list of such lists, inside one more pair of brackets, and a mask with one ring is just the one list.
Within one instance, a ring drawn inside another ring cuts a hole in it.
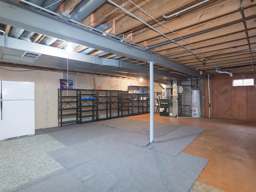
[{"label": "whole white two-door refrigerator against the left wall", "polygon": [[34,82],[0,82],[0,141],[35,134]]}]

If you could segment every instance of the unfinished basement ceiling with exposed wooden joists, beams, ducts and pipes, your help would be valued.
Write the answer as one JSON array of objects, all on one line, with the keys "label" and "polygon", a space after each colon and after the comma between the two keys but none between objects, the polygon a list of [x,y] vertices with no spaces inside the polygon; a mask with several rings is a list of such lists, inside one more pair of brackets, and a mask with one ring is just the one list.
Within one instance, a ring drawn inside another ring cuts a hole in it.
[{"label": "unfinished basement ceiling with exposed wooden joists, beams, ducts and pipes", "polygon": [[149,79],[152,61],[163,83],[255,72],[255,0],[28,2],[51,13],[0,0],[2,66],[65,71],[68,58],[70,71]]}]

